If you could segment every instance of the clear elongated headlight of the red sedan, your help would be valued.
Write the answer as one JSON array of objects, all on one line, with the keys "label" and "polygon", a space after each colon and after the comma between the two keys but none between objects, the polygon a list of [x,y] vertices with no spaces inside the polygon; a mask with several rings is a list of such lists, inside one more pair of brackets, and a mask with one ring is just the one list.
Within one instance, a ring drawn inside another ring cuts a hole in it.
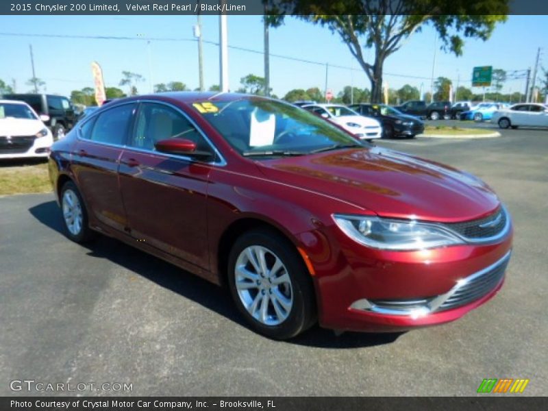
[{"label": "clear elongated headlight of the red sedan", "polygon": [[344,214],[334,214],[333,219],[347,236],[376,249],[410,251],[464,242],[435,224]]}]

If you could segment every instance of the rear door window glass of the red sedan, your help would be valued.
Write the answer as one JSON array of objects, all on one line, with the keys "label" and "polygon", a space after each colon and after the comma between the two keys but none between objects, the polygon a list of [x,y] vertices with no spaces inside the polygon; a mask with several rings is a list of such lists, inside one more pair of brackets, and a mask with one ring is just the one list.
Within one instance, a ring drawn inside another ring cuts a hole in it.
[{"label": "rear door window glass of the red sedan", "polygon": [[95,120],[90,140],[123,145],[134,108],[135,104],[124,104],[99,114]]}]

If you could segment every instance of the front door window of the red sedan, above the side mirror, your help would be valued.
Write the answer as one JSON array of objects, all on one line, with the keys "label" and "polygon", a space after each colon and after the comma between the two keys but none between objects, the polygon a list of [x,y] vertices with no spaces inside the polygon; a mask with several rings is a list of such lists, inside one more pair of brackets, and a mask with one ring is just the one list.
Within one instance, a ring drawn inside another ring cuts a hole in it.
[{"label": "front door window of the red sedan, above the side mirror", "polygon": [[164,104],[142,103],[129,145],[155,150],[155,143],[167,138],[184,138],[195,142],[197,151],[211,151],[196,127],[177,110]]}]

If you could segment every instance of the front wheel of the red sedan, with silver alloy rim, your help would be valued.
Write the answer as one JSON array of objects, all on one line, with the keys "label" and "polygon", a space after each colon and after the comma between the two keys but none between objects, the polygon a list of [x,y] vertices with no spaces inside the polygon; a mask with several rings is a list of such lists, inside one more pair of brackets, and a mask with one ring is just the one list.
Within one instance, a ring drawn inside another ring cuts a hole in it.
[{"label": "front wheel of the red sedan, with silver alloy rim", "polygon": [[271,230],[252,230],[236,240],[228,260],[228,284],[247,323],[269,338],[292,338],[316,319],[306,266],[295,247]]}]

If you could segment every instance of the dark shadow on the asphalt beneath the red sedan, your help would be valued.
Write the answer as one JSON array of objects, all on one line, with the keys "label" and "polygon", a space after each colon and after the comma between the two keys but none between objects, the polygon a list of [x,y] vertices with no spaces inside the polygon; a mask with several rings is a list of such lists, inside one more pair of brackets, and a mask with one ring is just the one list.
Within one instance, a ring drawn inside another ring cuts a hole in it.
[{"label": "dark shadow on the asphalt beneath the red sedan", "polygon": [[[64,234],[61,214],[55,201],[47,201],[29,208],[30,214],[43,225],[55,232]],[[69,241],[67,239],[67,241]],[[145,277],[159,286],[167,288],[182,297],[199,303],[201,306],[234,321],[242,327],[247,327],[240,316],[229,292],[225,287],[216,286],[205,279],[179,269],[173,264],[151,256],[125,243],[98,236],[95,241],[82,247],[88,249],[88,256],[104,258],[114,264]],[[336,336],[332,330],[323,329],[317,325],[307,332],[288,340],[287,343],[319,348],[358,348],[373,347],[393,343],[403,333],[366,334],[347,332]]]}]

